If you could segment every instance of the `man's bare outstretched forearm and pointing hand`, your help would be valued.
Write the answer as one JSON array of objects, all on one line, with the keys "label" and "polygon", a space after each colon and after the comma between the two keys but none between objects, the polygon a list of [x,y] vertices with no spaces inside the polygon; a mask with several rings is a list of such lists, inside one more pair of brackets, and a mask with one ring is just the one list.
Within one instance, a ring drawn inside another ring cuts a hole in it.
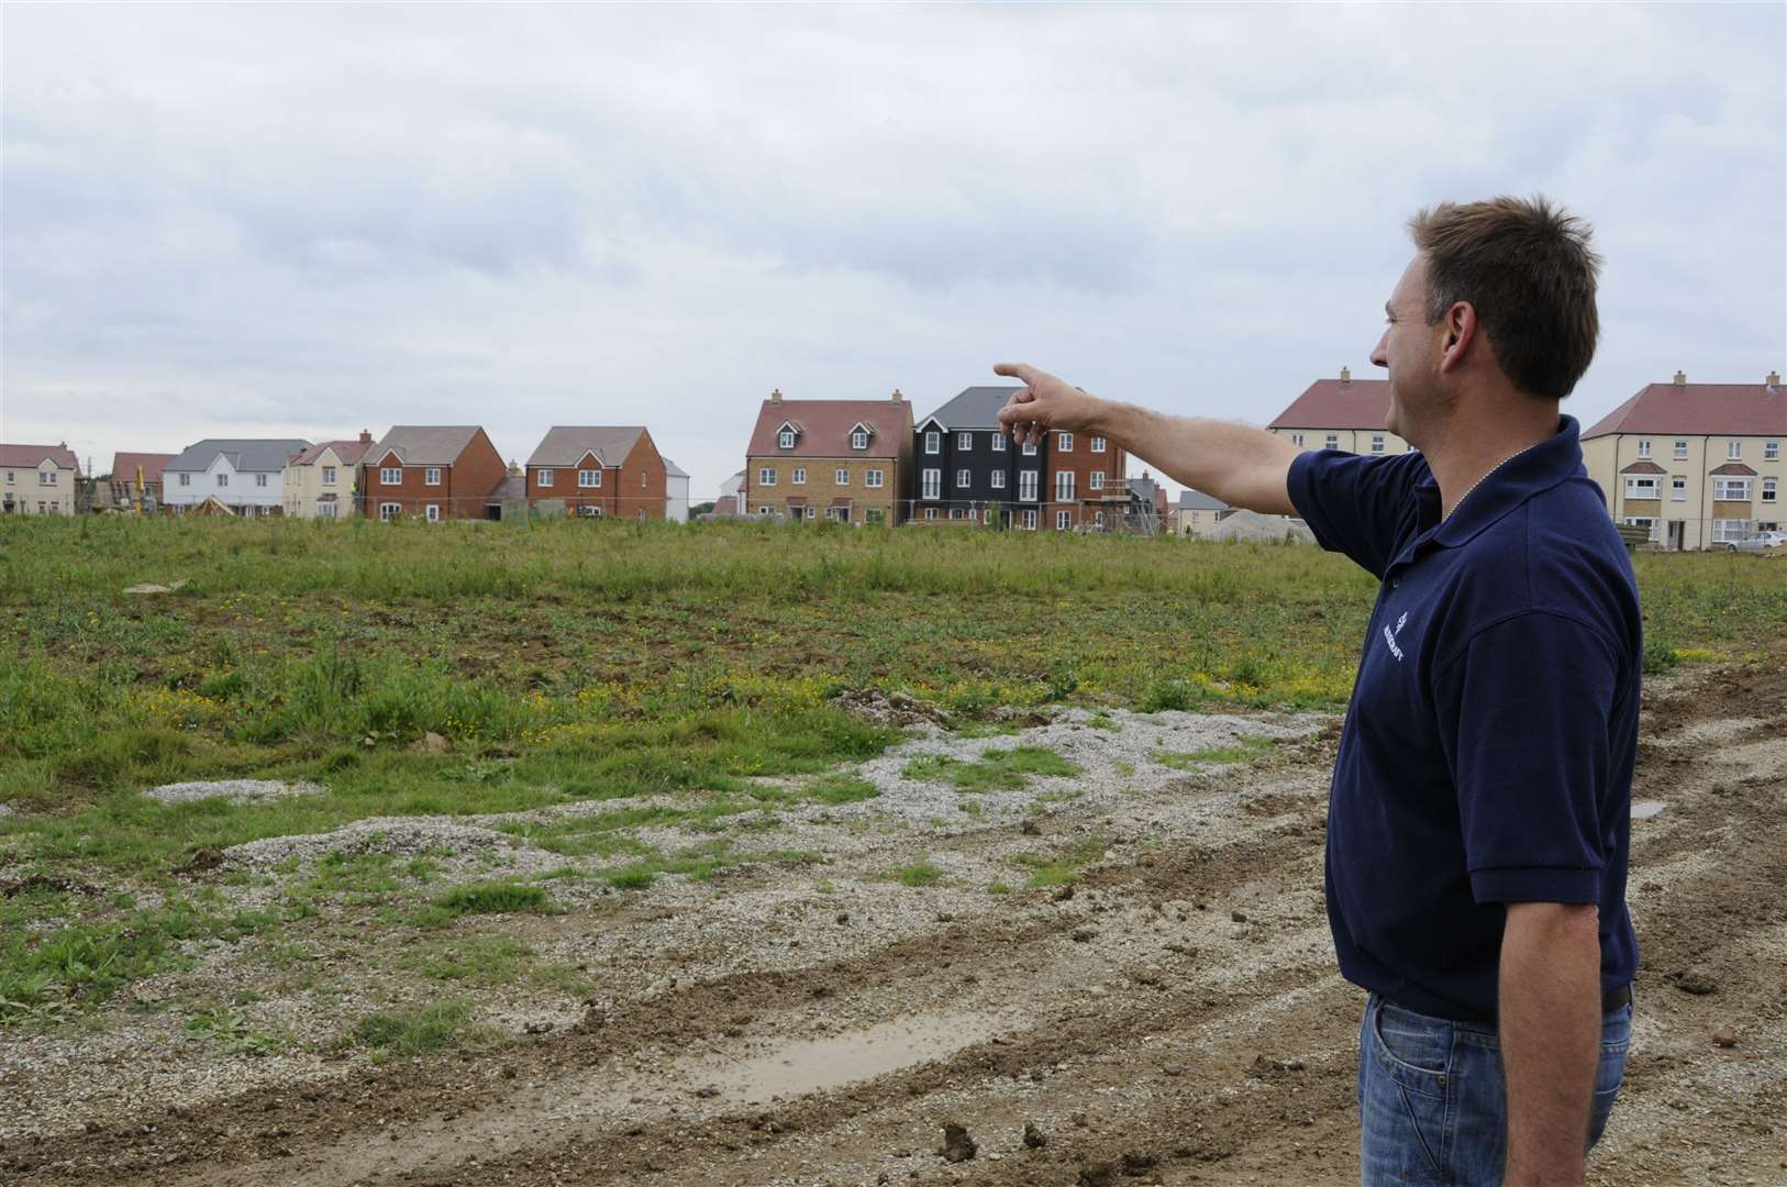
[{"label": "man's bare outstretched forearm and pointing hand", "polygon": [[1047,431],[1090,433],[1229,506],[1267,515],[1297,513],[1285,479],[1299,450],[1281,436],[1103,400],[1028,363],[999,363],[994,372],[1024,384],[999,409],[999,424],[1019,442],[1040,440]]}]

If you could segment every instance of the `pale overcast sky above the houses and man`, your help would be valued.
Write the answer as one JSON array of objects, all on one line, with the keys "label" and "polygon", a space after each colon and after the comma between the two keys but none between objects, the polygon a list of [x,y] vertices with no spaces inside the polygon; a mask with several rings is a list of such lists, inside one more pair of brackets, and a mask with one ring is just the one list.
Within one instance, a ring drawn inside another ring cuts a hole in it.
[{"label": "pale overcast sky above the houses and man", "polygon": [[647,424],[701,501],[774,386],[1008,358],[1263,424],[1496,193],[1607,256],[1567,411],[1787,365],[1782,4],[0,13],[0,440],[102,472]]}]

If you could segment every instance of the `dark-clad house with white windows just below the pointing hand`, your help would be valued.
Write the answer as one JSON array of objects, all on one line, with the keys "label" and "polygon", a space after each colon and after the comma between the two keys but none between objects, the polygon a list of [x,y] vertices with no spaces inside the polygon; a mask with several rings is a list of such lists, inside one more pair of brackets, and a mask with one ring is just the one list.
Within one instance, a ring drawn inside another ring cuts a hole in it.
[{"label": "dark-clad house with white windows just below the pointing hand", "polygon": [[1013,391],[967,388],[913,427],[908,522],[1040,526],[1049,440],[1019,447],[999,425]]}]

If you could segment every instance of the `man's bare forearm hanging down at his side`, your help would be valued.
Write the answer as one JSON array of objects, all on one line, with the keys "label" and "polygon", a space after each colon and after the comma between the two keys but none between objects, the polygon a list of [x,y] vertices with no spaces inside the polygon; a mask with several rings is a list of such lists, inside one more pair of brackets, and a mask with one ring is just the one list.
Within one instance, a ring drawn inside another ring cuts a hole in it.
[{"label": "man's bare forearm hanging down at his side", "polygon": [[1601,1062],[1601,937],[1594,905],[1508,903],[1501,933],[1506,1187],[1580,1183]]}]

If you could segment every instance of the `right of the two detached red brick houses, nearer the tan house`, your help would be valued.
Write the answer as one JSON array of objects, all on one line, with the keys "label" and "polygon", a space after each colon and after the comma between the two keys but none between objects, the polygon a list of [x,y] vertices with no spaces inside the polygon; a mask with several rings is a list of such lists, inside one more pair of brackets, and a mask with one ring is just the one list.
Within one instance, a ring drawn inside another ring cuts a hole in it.
[{"label": "right of the two detached red brick houses, nearer the tan house", "polygon": [[527,506],[566,515],[665,518],[668,468],[643,425],[554,425],[527,458]]}]

